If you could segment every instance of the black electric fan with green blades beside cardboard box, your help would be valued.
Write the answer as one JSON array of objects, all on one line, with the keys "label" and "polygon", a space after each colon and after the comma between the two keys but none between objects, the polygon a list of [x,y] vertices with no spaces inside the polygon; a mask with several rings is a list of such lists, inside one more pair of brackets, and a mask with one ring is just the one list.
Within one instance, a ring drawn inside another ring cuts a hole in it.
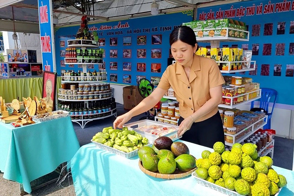
[{"label": "black electric fan with green blades beside cardboard box", "polygon": [[[148,97],[153,92],[153,88],[154,88],[154,85],[151,84],[151,82],[147,80],[146,78],[142,78],[138,82],[138,90],[140,95],[143,98]],[[144,120],[144,119],[154,120],[154,117],[150,115],[149,110],[147,111],[147,116],[142,117],[139,120]]]}]

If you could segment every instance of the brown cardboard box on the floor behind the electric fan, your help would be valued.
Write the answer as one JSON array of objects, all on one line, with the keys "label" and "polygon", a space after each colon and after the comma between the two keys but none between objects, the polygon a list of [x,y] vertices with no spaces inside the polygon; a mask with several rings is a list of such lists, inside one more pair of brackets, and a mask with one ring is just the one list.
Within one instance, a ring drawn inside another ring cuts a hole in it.
[{"label": "brown cardboard box on the floor behind the electric fan", "polygon": [[123,108],[131,110],[138,105],[144,98],[140,95],[137,86],[123,87]]}]

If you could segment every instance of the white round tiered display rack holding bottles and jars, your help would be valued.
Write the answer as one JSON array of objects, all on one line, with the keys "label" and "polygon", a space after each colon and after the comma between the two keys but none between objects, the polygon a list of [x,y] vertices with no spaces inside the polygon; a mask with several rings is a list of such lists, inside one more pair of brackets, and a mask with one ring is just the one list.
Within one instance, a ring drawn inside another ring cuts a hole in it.
[{"label": "white round tiered display rack holding bottles and jars", "polygon": [[[68,40],[69,41],[80,41],[81,44],[70,44],[68,45],[68,47],[76,47],[76,48],[81,48],[81,49],[86,49],[86,48],[98,48],[98,46],[96,45],[89,45],[89,44],[83,44],[83,42],[85,41],[88,41],[88,40]],[[64,63],[64,64],[71,64],[71,65],[83,65],[83,73],[86,73],[87,72],[87,65],[99,65],[99,64],[103,64],[103,63]],[[99,69],[98,69],[99,70]],[[107,79],[107,75],[106,76],[74,76],[74,77],[84,77],[84,78],[90,78],[90,77],[97,77],[95,81],[67,81],[68,78],[66,77],[70,77],[70,76],[62,76],[64,77],[64,80],[62,82],[64,83],[97,83],[97,82],[104,82],[106,81]],[[102,80],[102,79],[105,79],[105,80]],[[106,93],[106,94],[109,94],[109,93]],[[59,94],[61,95],[61,94]],[[102,94],[99,94],[99,98],[98,99],[88,99],[88,100],[73,100],[73,99],[62,99],[62,98],[58,98],[58,100],[61,100],[61,101],[83,101],[85,103],[88,104],[89,101],[95,101],[95,100],[105,100],[105,99],[109,99],[109,98],[112,98],[113,97],[113,89],[111,89],[111,96],[110,97],[107,97],[107,98],[101,98],[101,95]],[[82,119],[72,119],[71,121],[72,122],[76,122],[78,123],[81,128],[84,128],[85,125],[88,123],[88,122],[91,122],[93,120],[99,120],[99,119],[103,119],[103,118],[108,118],[110,116],[115,116],[117,117],[117,113],[114,112],[116,111],[116,108],[114,108],[113,110],[111,111],[107,111],[107,112],[104,112],[104,113],[110,113],[109,115],[107,116],[103,116],[103,117],[98,117],[98,118],[88,118],[88,119],[84,119],[83,117],[85,115],[74,115],[74,116],[82,116]],[[103,114],[103,113],[99,113],[99,114]],[[69,115],[70,116],[70,115]]]}]

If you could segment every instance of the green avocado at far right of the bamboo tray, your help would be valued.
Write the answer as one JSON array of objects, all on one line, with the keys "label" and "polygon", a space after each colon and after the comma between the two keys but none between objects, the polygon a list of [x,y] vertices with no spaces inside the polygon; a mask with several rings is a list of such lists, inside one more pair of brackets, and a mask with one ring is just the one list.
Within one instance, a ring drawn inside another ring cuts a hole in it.
[{"label": "green avocado at far right of the bamboo tray", "polygon": [[177,168],[182,172],[188,172],[196,167],[196,160],[188,154],[179,155],[176,159]]}]

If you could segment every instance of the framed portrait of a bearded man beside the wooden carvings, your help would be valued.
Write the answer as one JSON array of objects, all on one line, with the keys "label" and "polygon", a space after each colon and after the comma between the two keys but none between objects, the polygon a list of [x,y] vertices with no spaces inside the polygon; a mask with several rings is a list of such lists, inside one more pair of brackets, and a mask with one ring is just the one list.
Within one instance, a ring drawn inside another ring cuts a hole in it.
[{"label": "framed portrait of a bearded man beside the wooden carvings", "polygon": [[56,93],[57,73],[44,71],[43,73],[43,93],[42,97],[46,101],[47,107],[55,110],[55,93]]}]

